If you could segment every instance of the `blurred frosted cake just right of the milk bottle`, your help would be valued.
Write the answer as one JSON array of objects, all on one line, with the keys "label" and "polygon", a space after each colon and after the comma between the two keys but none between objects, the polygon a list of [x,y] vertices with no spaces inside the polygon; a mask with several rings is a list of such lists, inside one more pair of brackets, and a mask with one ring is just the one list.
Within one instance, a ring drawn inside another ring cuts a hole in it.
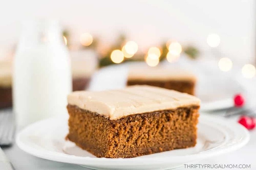
[{"label": "blurred frosted cake just right of the milk bottle", "polygon": [[98,67],[97,55],[92,50],[70,51],[73,91],[85,90]]}]

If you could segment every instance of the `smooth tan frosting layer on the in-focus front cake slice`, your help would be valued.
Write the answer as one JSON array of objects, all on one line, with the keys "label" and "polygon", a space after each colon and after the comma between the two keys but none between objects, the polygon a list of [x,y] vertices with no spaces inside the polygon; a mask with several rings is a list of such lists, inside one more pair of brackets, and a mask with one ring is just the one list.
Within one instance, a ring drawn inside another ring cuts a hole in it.
[{"label": "smooth tan frosting layer on the in-focus front cake slice", "polygon": [[132,114],[199,106],[200,100],[174,90],[136,85],[121,90],[75,91],[68,95],[68,104],[116,120]]}]

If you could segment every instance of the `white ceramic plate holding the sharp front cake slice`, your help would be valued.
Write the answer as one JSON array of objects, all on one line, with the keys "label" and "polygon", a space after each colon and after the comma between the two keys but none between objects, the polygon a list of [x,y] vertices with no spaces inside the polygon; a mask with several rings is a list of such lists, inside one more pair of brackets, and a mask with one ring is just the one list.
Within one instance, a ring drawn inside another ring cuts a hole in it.
[{"label": "white ceramic plate holding the sharp front cake slice", "polygon": [[51,118],[29,125],[16,138],[20,149],[36,157],[74,163],[91,169],[171,169],[184,163],[237,150],[249,140],[248,131],[238,123],[201,115],[197,145],[136,158],[96,158],[65,141],[67,118]]}]

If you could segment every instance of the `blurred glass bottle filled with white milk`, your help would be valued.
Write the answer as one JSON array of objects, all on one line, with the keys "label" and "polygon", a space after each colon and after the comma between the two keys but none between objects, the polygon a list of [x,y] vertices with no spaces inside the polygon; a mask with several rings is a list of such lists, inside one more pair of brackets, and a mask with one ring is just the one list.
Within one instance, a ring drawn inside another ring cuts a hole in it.
[{"label": "blurred glass bottle filled with white milk", "polygon": [[13,98],[18,127],[67,114],[71,66],[57,21],[27,21],[14,59]]}]

